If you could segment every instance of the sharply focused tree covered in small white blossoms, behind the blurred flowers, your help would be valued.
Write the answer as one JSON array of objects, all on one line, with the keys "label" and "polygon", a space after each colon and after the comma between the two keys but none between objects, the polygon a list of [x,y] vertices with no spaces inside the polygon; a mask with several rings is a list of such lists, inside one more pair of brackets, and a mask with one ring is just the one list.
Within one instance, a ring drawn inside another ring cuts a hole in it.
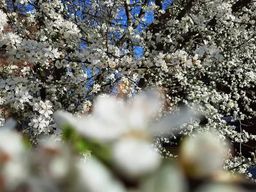
[{"label": "sharply focused tree covered in small white blossoms, behind the blurred flowers", "polygon": [[204,126],[191,119],[177,127],[181,134],[214,129],[239,143],[225,168],[245,172],[242,146],[255,139],[244,130],[256,117],[253,0],[1,0],[0,7],[0,47],[10,62],[0,71],[1,108],[18,114],[32,143],[41,134],[61,139],[57,110],[79,117],[99,94],[129,102],[154,88],[164,93],[160,116],[183,103],[206,117]]}]

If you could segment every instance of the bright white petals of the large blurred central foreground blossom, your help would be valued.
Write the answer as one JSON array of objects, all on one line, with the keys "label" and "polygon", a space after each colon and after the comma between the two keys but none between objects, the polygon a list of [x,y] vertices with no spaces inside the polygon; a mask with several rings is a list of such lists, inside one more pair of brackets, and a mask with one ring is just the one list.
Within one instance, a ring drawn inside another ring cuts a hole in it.
[{"label": "bright white petals of the large blurred central foreground blossom", "polygon": [[161,159],[154,154],[148,120],[159,109],[158,96],[141,95],[125,105],[113,98],[99,98],[92,116],[73,119],[69,114],[55,114],[59,125],[68,123],[84,137],[99,143],[111,143],[114,165],[128,177],[152,172]]}]

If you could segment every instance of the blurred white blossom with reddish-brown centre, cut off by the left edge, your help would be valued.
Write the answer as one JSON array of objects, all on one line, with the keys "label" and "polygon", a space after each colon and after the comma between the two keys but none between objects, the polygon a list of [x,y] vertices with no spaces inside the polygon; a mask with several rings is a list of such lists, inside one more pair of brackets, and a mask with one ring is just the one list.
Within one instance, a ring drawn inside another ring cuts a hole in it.
[{"label": "blurred white blossom with reddish-brown centre, cut off by the left edge", "polygon": [[0,191],[16,189],[28,176],[22,136],[11,130],[15,124],[13,119],[9,119],[0,128],[0,180],[3,182]]}]

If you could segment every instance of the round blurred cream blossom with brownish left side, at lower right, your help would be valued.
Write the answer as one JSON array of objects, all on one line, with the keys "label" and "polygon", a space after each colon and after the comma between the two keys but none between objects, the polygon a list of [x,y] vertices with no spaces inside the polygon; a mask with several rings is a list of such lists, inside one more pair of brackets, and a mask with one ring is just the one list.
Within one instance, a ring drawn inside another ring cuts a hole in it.
[{"label": "round blurred cream blossom with brownish left side, at lower right", "polygon": [[225,148],[229,147],[213,132],[186,138],[180,151],[181,167],[189,177],[213,177],[221,172],[223,160],[227,158]]}]

